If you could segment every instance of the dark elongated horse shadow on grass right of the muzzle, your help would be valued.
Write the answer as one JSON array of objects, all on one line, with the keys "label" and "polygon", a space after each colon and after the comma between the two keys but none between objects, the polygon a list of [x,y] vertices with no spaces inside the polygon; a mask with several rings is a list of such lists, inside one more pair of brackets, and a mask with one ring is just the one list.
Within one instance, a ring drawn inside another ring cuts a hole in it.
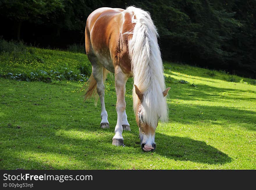
[{"label": "dark elongated horse shadow on grass right of the muzzle", "polygon": [[156,140],[155,152],[170,159],[207,164],[224,164],[232,161],[227,154],[203,141],[160,133],[156,133]]}]

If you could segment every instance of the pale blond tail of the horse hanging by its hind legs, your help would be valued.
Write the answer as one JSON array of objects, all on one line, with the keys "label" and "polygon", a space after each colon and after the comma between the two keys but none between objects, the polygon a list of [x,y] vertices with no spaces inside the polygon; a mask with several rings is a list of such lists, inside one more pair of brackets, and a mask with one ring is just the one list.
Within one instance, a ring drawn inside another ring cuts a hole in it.
[{"label": "pale blond tail of the horse hanging by its hind legs", "polygon": [[[109,73],[109,71],[103,67],[103,82],[104,83],[106,81],[108,73]],[[88,79],[88,81],[86,82],[86,84],[84,84],[83,89],[86,92],[84,95],[84,101],[86,101],[86,99],[90,99],[91,97],[93,97],[93,98],[95,98],[94,105],[97,106],[99,95],[97,93],[97,82],[96,82],[95,78],[93,77],[93,72],[92,72],[90,78]]]}]

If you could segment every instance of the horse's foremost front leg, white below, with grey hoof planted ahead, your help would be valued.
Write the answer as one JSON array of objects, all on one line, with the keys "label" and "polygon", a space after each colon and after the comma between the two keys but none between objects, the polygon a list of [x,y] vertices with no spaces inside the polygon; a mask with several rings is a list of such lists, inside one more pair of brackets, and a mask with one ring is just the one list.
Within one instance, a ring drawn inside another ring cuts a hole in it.
[{"label": "horse's foremost front leg, white below, with grey hoof planted ahead", "polygon": [[[123,132],[123,117],[125,113],[125,84],[128,76],[122,72],[119,66],[115,68],[115,92],[117,97],[116,112],[117,112],[117,123],[115,126],[115,135],[113,137],[112,144],[115,146],[124,146],[124,138],[122,137]],[[128,123],[128,122],[127,122]]]}]

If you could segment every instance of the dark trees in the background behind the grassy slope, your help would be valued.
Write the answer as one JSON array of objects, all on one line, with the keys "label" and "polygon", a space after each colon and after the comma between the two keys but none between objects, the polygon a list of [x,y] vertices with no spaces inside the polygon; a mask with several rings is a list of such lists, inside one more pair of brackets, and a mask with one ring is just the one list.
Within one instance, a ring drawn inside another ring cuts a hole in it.
[{"label": "dark trees in the background behind the grassy slope", "polygon": [[0,35],[66,48],[84,43],[90,12],[130,5],[150,12],[163,59],[256,78],[256,0],[0,0]]}]

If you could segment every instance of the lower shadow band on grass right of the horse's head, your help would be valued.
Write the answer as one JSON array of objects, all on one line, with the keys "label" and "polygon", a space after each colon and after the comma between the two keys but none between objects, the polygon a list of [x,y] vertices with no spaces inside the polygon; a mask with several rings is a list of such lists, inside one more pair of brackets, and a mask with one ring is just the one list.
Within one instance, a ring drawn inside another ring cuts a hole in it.
[{"label": "lower shadow band on grass right of the horse's head", "polygon": [[[169,120],[183,124],[199,124],[209,122],[225,127],[244,127],[247,130],[256,131],[256,112],[227,108],[222,106],[192,106],[190,104],[169,103]],[[202,114],[203,113],[203,114]]]}]

